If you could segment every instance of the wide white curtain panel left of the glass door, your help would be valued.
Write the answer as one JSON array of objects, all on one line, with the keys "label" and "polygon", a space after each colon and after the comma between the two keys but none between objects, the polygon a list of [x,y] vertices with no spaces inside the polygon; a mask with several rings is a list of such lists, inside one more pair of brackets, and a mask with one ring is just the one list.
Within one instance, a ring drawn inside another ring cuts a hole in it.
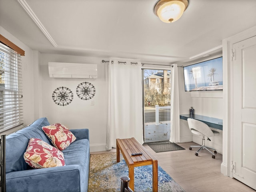
[{"label": "wide white curtain panel left of the glass door", "polygon": [[[126,62],[126,64],[122,63]],[[106,150],[117,138],[134,137],[143,144],[141,63],[110,60],[108,63],[108,126]]]}]

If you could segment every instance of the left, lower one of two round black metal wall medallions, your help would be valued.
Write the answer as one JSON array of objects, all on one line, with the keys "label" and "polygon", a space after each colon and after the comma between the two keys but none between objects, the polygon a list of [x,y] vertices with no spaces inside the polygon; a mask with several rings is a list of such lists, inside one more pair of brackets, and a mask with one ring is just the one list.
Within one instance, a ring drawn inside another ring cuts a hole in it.
[{"label": "left, lower one of two round black metal wall medallions", "polygon": [[58,87],[52,94],[53,101],[60,106],[65,106],[73,100],[73,93],[69,88]]}]

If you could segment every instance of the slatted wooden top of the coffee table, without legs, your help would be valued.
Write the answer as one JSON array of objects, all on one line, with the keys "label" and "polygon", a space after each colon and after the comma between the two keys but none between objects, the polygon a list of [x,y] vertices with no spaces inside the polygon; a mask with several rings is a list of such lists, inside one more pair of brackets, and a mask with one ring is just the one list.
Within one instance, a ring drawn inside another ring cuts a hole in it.
[{"label": "slatted wooden top of the coffee table, without legs", "polygon": [[[152,164],[153,160],[156,160],[135,138],[116,139],[116,142],[122,152],[126,163],[129,165],[140,164]],[[142,152],[142,155],[132,156],[132,153]]]}]

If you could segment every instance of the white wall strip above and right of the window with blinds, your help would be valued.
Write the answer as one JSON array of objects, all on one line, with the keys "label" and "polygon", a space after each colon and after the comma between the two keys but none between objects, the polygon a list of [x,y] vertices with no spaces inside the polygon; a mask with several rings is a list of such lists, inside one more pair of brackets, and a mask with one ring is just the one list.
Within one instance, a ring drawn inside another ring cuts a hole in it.
[{"label": "white wall strip above and right of the window with blinds", "polygon": [[[34,116],[34,51],[0,26],[0,34],[25,51],[22,56],[23,119],[24,125],[35,120]],[[8,133],[4,133],[8,134]]]}]

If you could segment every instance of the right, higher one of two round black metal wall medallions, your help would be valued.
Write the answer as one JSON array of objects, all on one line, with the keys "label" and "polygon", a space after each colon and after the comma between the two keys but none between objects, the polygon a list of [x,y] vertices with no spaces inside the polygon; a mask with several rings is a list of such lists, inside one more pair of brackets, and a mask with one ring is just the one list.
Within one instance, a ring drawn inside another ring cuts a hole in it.
[{"label": "right, higher one of two round black metal wall medallions", "polygon": [[89,100],[95,95],[95,87],[89,82],[82,82],[77,86],[76,94],[82,100]]}]

